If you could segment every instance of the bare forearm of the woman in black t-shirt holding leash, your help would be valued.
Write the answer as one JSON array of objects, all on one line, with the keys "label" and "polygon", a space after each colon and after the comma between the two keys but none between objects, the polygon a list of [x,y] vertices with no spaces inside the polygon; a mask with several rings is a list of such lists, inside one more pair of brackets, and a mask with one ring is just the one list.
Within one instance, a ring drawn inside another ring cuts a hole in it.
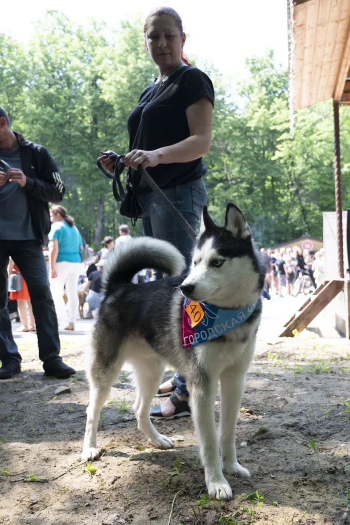
[{"label": "bare forearm of the woman in black t-shirt holding leash", "polygon": [[211,136],[192,135],[177,144],[159,148],[159,164],[172,164],[173,162],[191,162],[207,155],[210,150]]}]

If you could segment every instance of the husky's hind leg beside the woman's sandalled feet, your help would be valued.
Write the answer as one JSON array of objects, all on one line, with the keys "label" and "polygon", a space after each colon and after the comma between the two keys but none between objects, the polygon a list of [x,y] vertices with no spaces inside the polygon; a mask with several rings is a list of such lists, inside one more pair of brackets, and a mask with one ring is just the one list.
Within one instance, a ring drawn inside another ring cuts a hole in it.
[{"label": "husky's hind leg beside the woman's sandalled feet", "polygon": [[171,448],[173,446],[171,439],[159,434],[149,417],[152,398],[156,395],[163,379],[164,363],[155,355],[152,358],[135,360],[132,364],[135,369],[137,390],[136,401],[132,408],[137,417],[138,427],[146,434],[150,445],[157,448]]}]

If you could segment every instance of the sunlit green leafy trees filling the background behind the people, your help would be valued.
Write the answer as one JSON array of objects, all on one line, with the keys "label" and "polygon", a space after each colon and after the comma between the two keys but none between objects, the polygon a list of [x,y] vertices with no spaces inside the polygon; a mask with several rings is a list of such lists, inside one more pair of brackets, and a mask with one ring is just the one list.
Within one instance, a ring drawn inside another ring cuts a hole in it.
[{"label": "sunlit green leafy trees filling the background behind the people", "polygon": [[[156,76],[140,18],[106,29],[48,11],[25,48],[0,33],[1,104],[13,129],[54,155],[66,185],[63,204],[95,248],[128,222],[97,156],[128,151],[128,115]],[[335,206],[332,104],[297,112],[291,137],[286,70],[272,53],[247,60],[246,67],[236,104],[218,72],[206,68],[216,95],[212,147],[204,159],[209,209],[222,222],[225,199],[238,204],[259,245],[322,237],[322,212]],[[344,202],[350,197],[349,129],[350,114],[342,108]],[[140,232],[138,221],[132,233]]]}]

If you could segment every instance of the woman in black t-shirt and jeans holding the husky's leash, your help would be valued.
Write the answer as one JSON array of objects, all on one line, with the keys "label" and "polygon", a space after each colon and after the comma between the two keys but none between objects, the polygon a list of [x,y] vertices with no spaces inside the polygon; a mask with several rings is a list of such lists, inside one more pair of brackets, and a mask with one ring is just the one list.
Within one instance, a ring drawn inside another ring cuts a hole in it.
[{"label": "woman in black t-shirt and jeans holding the husky's leash", "polygon": [[[207,75],[184,58],[186,34],[174,9],[161,7],[152,11],[146,18],[144,36],[150,57],[158,66],[158,78],[142,91],[138,105],[129,115],[130,152],[125,156],[125,164],[131,168],[131,176],[140,164],[147,169],[196,230],[207,204],[202,178],[207,169],[202,156],[209,152],[211,144],[213,85]],[[115,161],[108,157],[111,153],[101,152],[98,162],[113,172]],[[143,212],[143,234],[172,243],[189,265],[192,240],[142,179],[137,199]],[[152,417],[190,415],[186,382],[178,373],[160,385],[158,395],[170,398],[152,408]]]}]

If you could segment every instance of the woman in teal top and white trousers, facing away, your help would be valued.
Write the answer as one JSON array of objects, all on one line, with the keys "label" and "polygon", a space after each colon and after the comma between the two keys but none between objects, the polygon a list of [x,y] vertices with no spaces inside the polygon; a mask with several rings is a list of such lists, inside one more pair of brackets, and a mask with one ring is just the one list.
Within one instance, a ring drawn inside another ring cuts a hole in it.
[{"label": "woman in teal top and white trousers, facing away", "polygon": [[55,302],[58,325],[63,328],[67,322],[67,310],[63,299],[64,287],[68,299],[68,324],[65,330],[74,330],[74,323],[79,307],[78,280],[81,268],[80,250],[83,248],[78,228],[74,219],[63,206],[50,209],[52,226],[50,239],[50,287]]}]

